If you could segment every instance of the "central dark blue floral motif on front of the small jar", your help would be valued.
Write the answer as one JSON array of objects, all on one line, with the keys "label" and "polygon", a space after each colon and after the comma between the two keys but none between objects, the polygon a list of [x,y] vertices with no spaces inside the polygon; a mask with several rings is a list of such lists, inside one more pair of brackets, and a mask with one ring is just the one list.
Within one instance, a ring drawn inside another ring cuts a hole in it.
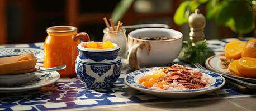
[{"label": "central dark blue floral motif on front of the small jar", "polygon": [[91,70],[93,70],[94,73],[97,73],[100,77],[104,75],[106,72],[108,72],[108,70],[111,69],[110,65],[105,65],[105,66],[91,65],[90,67],[91,67]]}]

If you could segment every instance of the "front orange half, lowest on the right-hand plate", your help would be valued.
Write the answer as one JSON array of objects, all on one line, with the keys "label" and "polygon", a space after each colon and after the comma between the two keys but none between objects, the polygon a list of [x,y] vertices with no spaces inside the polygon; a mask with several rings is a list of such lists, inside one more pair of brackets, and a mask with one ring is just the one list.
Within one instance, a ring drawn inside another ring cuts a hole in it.
[{"label": "front orange half, lowest on the right-hand plate", "polygon": [[256,77],[256,58],[242,57],[236,65],[238,72],[244,77]]}]

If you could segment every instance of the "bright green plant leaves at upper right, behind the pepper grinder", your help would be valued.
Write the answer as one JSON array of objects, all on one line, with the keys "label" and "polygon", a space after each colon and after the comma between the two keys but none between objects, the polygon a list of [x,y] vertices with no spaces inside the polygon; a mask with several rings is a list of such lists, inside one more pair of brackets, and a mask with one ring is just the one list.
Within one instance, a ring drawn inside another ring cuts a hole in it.
[{"label": "bright green plant leaves at upper right, behind the pepper grinder", "polygon": [[191,0],[183,1],[174,14],[174,22],[182,25],[188,22],[189,14],[200,4],[207,3],[207,19],[215,19],[219,25],[230,27],[239,34],[246,34],[255,28],[252,0]]}]

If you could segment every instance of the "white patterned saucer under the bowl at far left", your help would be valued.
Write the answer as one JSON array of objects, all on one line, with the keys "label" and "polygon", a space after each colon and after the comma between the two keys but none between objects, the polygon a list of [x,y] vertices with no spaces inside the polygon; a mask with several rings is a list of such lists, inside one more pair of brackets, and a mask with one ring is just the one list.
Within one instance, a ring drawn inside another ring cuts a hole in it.
[{"label": "white patterned saucer under the bowl at far left", "polygon": [[30,81],[13,86],[13,87],[0,87],[0,93],[23,92],[27,90],[38,89],[56,82],[60,78],[60,74],[56,71],[46,73],[36,73],[34,78]]}]

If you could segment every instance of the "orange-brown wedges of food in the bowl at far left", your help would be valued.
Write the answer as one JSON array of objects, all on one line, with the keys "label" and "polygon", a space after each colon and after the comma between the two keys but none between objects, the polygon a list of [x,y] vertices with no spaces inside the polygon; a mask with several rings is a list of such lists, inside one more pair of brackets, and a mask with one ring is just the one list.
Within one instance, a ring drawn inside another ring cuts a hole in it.
[{"label": "orange-brown wedges of food in the bowl at far left", "polygon": [[0,58],[0,75],[8,75],[19,70],[35,68],[36,62],[37,59],[34,58],[32,53]]}]

